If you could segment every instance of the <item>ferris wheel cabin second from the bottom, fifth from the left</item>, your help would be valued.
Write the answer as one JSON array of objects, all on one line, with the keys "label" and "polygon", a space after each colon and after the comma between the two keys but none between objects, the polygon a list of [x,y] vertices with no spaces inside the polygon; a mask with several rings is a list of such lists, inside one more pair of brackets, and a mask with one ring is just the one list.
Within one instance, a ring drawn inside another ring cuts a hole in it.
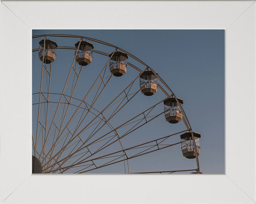
[{"label": "ferris wheel cabin second from the bottom, fifth from the left", "polygon": [[[177,98],[178,102],[183,104],[183,100]],[[167,98],[164,101],[164,111],[165,111],[165,119],[169,123],[178,123],[182,119],[181,108],[178,105],[175,98]]]}]

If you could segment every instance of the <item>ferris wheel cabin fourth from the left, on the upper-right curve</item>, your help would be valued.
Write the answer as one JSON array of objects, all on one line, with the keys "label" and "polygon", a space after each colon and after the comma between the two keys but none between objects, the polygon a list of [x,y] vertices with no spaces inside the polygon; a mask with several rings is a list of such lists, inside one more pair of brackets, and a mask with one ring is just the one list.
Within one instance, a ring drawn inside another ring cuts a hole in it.
[{"label": "ferris wheel cabin fourth from the left, on the upper-right curve", "polygon": [[144,71],[140,75],[140,91],[145,96],[152,96],[157,92],[157,76],[152,71]]}]

